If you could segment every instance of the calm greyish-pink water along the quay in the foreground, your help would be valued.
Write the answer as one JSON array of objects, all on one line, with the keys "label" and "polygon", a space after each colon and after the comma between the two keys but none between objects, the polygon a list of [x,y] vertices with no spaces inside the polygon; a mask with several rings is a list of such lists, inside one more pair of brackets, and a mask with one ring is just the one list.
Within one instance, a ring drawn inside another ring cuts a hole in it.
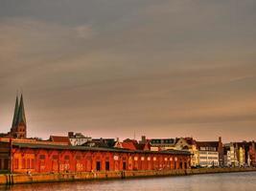
[{"label": "calm greyish-pink water along the quay in the foreground", "polygon": [[86,180],[58,183],[19,184],[0,190],[48,191],[255,191],[256,172],[195,175],[132,180]]}]

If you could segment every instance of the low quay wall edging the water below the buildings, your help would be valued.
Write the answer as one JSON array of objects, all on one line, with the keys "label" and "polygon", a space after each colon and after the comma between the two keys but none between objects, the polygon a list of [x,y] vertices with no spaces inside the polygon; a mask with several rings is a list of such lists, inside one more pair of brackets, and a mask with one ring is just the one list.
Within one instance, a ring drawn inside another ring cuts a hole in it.
[{"label": "low quay wall edging the water below the buildings", "polygon": [[190,176],[200,174],[255,172],[256,168],[200,168],[180,170],[149,170],[149,171],[109,171],[81,173],[45,173],[45,174],[0,174],[0,185],[20,183],[42,183],[77,180],[118,180],[147,177]]}]

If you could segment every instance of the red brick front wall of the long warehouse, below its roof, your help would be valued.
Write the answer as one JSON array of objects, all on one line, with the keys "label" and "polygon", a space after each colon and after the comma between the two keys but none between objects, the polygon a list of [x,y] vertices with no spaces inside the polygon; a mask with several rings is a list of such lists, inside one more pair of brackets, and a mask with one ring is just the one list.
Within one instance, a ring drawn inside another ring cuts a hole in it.
[{"label": "red brick front wall of the long warehouse, below its roof", "polygon": [[107,151],[12,149],[14,173],[169,170],[190,168],[190,156]]}]

